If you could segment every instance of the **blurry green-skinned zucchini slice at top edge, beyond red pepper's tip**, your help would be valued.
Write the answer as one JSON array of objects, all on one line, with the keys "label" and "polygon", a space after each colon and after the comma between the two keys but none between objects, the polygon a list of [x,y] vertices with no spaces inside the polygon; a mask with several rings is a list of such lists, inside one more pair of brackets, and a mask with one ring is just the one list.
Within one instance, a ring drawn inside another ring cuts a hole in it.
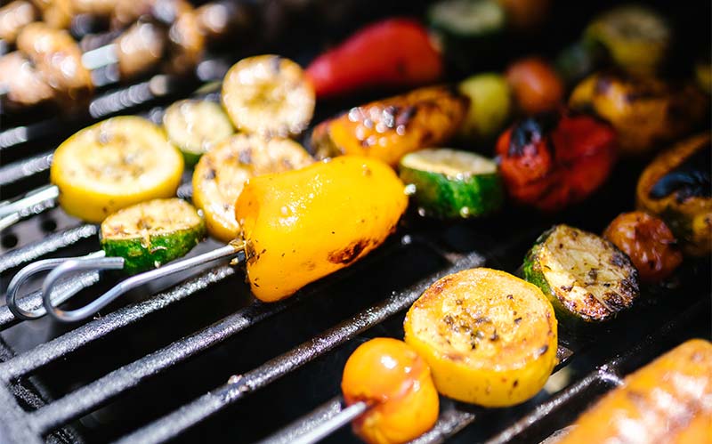
[{"label": "blurry green-skinned zucchini slice at top edge, beyond red pepper's tip", "polygon": [[428,19],[433,28],[461,38],[489,36],[506,24],[505,10],[494,0],[444,0],[433,4]]}]

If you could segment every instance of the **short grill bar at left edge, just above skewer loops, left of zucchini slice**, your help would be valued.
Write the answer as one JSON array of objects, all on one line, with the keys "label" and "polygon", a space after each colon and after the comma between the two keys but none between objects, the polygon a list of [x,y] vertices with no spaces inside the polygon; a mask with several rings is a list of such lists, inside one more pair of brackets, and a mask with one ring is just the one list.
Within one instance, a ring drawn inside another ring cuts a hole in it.
[{"label": "short grill bar at left edge, just above skewer loops, left of zucchini slice", "polygon": [[0,273],[15,268],[23,263],[34,261],[45,254],[76,244],[85,238],[91,238],[99,227],[90,223],[55,232],[42,240],[22,246],[0,256]]}]

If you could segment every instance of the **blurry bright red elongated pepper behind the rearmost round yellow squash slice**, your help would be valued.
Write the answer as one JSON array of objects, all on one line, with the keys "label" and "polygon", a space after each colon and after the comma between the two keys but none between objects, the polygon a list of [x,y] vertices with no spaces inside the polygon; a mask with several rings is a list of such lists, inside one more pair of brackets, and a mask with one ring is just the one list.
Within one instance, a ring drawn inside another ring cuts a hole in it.
[{"label": "blurry bright red elongated pepper behind the rearmost round yellow squash slice", "polygon": [[442,75],[442,57],[416,20],[388,19],[362,28],[309,68],[317,97],[352,93],[369,86],[411,86]]}]

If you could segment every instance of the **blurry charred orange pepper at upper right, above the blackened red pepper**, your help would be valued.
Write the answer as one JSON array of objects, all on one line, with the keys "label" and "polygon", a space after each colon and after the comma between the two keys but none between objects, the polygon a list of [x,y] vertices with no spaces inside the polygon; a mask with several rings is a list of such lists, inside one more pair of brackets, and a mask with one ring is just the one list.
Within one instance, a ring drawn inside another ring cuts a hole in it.
[{"label": "blurry charred orange pepper at upper right, above the blackened red pepper", "polygon": [[693,85],[601,73],[587,77],[574,89],[570,106],[592,110],[610,122],[618,133],[621,153],[638,155],[690,131],[708,103]]}]

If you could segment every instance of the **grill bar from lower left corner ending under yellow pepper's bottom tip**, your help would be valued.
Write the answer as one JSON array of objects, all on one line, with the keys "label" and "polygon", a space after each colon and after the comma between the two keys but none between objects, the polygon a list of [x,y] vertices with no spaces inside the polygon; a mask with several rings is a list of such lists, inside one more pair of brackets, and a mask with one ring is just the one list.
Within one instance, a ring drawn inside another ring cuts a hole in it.
[{"label": "grill bar from lower left corner ending under yellow pepper's bottom tip", "polygon": [[67,424],[72,419],[135,387],[150,376],[157,375],[200,351],[222,343],[245,328],[283,311],[293,302],[295,301],[290,299],[284,303],[253,303],[194,335],[186,336],[142,359],[117,368],[60,400],[39,408],[31,414],[30,421],[41,433]]}]

